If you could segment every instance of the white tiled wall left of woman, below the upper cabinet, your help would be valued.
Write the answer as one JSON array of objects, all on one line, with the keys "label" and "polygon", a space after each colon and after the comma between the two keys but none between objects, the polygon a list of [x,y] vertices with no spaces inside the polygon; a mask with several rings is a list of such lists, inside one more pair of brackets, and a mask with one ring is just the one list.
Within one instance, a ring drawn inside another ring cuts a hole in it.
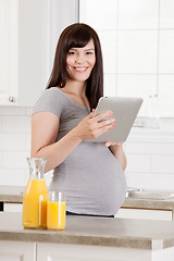
[{"label": "white tiled wall left of woman, below the upper cabinet", "polygon": [[[30,153],[32,108],[0,108],[0,185],[25,186]],[[47,174],[49,183],[51,172]]]}]

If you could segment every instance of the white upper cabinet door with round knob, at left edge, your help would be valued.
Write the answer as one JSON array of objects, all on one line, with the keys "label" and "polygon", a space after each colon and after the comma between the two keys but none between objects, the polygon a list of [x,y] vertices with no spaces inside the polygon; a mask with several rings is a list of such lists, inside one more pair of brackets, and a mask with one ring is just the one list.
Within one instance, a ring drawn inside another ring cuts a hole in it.
[{"label": "white upper cabinet door with round knob, at left edge", "polygon": [[0,104],[18,97],[18,0],[0,1]]}]

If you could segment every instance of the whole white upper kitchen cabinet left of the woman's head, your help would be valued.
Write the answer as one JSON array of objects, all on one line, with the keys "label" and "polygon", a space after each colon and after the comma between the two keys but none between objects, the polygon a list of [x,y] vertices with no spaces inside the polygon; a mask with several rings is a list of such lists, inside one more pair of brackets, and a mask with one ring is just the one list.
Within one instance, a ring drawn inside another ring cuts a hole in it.
[{"label": "whole white upper kitchen cabinet left of the woman's head", "polygon": [[0,105],[33,107],[46,88],[54,42],[77,21],[77,0],[1,0],[0,17]]}]

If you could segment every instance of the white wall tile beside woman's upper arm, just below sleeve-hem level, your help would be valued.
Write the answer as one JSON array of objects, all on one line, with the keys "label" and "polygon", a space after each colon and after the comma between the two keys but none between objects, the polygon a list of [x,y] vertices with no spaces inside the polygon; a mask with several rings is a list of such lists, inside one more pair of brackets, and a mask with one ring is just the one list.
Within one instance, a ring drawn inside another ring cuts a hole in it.
[{"label": "white wall tile beside woman's upper arm, just below sleeve-hem level", "polygon": [[3,133],[29,133],[29,116],[2,116]]}]

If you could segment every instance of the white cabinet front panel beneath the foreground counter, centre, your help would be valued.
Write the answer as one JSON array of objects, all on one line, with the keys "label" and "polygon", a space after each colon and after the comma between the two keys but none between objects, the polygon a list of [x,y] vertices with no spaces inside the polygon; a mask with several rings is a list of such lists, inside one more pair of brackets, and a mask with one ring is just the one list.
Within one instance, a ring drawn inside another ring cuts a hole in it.
[{"label": "white cabinet front panel beneath the foreground counter, centre", "polygon": [[125,251],[125,248],[116,247],[38,243],[37,261],[152,261],[152,259],[150,250],[126,248]]}]

